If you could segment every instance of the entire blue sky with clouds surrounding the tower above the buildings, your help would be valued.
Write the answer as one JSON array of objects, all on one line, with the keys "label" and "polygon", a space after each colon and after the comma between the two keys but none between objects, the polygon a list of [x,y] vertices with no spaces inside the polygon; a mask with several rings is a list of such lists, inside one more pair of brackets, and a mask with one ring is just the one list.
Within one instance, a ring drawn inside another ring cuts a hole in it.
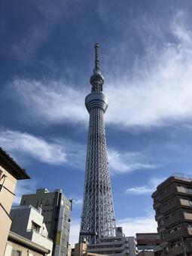
[{"label": "entire blue sky with clouds surrounding the tower above the buildings", "polygon": [[78,237],[94,49],[99,42],[117,223],[155,231],[151,193],[191,173],[190,1],[2,1],[0,145],[31,175],[21,194],[62,188]]}]

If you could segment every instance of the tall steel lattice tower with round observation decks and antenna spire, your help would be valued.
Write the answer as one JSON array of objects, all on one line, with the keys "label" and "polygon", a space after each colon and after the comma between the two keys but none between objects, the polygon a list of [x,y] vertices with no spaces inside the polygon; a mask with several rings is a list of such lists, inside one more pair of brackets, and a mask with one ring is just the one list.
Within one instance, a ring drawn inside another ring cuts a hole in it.
[{"label": "tall steel lattice tower with round observation decks and antenna spire", "polygon": [[114,206],[104,124],[108,96],[102,93],[104,78],[99,69],[99,44],[95,44],[95,50],[95,68],[90,77],[91,93],[85,98],[90,123],[80,230],[80,241],[86,238],[89,244],[98,242],[102,237],[115,236]]}]

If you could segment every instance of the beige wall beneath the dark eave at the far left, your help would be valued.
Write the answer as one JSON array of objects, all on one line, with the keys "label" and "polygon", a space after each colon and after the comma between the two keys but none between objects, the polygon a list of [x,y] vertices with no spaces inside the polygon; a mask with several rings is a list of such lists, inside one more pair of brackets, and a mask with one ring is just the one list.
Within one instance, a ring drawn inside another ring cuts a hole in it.
[{"label": "beige wall beneath the dark eave at the far left", "polygon": [[[6,177],[3,178],[3,175]],[[9,213],[14,200],[14,190],[17,179],[2,166],[0,166],[0,179],[0,229],[3,230],[3,232],[0,232],[0,255],[3,255],[11,227]]]}]

